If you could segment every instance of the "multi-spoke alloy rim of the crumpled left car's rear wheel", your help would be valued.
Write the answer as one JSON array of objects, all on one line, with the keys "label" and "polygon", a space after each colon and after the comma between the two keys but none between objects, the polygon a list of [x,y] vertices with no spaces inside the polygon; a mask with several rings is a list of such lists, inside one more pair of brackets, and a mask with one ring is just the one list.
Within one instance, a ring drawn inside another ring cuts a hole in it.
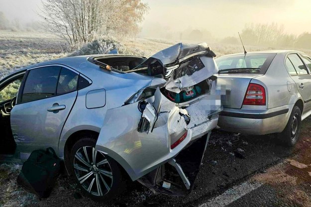
[{"label": "multi-spoke alloy rim of the crumpled left car's rear wheel", "polygon": [[94,196],[104,196],[112,186],[113,176],[108,160],[94,147],[84,146],[77,150],[74,169],[80,185]]}]

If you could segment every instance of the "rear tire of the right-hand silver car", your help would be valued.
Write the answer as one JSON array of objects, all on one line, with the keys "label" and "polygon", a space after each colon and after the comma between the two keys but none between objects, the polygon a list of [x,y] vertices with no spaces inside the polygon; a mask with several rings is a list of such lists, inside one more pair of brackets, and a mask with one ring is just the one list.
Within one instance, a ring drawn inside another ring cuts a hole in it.
[{"label": "rear tire of the right-hand silver car", "polygon": [[295,105],[285,129],[278,134],[278,138],[289,147],[295,146],[301,130],[301,110]]}]

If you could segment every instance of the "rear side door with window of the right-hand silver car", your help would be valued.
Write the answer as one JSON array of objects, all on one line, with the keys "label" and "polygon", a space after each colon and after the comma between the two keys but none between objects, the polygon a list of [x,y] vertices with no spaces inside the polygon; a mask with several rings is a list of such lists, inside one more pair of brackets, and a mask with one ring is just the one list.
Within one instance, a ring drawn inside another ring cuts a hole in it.
[{"label": "rear side door with window of the right-hand silver car", "polygon": [[305,107],[304,112],[311,109],[311,74],[302,58],[297,53],[289,54],[285,61],[287,70],[295,81],[299,93],[302,95]]}]

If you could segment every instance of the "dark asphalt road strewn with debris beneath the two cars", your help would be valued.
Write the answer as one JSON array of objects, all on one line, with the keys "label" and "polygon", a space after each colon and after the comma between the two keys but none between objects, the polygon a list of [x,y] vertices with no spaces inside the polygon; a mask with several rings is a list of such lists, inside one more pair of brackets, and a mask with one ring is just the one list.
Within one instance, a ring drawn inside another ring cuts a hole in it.
[{"label": "dark asphalt road strewn with debris beneath the two cars", "polygon": [[[109,207],[268,207],[311,206],[311,118],[303,121],[295,148],[273,136],[212,132],[193,192],[187,197],[155,195],[134,183],[108,204],[80,195],[71,178],[63,177],[48,199],[35,206]],[[310,166],[309,166],[310,165]],[[297,167],[298,166],[298,167]],[[302,167],[303,168],[300,168]],[[233,192],[233,193],[232,193]],[[296,195],[296,196],[293,196]]]}]

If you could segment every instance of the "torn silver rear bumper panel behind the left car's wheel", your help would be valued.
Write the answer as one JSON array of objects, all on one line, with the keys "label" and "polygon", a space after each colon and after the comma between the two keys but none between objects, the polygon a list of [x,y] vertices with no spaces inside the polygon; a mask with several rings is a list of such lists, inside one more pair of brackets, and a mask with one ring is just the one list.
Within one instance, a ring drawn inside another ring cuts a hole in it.
[{"label": "torn silver rear bumper panel behind the left car's wheel", "polygon": [[[159,110],[152,132],[149,131],[148,134],[138,131],[142,116],[140,102],[108,109],[106,112],[96,149],[116,160],[132,180],[168,162],[191,141],[192,132],[188,130],[185,140],[174,150],[170,149],[171,142],[179,139],[187,130],[187,123],[179,114],[180,109],[175,103],[168,104],[172,107],[167,111],[168,108],[164,106],[166,98],[162,94],[161,96],[164,100],[161,104],[163,107]],[[155,103],[155,97],[144,101]]]}]

